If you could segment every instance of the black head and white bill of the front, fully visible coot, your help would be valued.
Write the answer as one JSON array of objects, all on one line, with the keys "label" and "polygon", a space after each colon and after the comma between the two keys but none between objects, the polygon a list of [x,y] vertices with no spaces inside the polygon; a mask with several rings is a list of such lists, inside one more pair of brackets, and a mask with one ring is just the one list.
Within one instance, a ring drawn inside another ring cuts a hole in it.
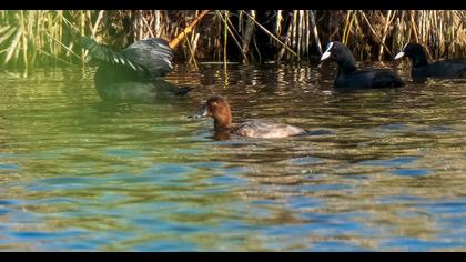
[{"label": "black head and white bill of the front, fully visible coot", "polygon": [[321,57],[321,62],[330,59],[332,62],[338,63],[344,71],[356,70],[356,60],[350,49],[338,41],[328,42],[325,52]]}]

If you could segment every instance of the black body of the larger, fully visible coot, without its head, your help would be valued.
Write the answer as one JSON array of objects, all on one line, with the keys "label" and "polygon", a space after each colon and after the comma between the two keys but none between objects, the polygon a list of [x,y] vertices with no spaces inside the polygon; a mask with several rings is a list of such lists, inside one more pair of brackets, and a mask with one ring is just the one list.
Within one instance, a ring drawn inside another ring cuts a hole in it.
[{"label": "black body of the larger, fully visible coot, without its head", "polygon": [[403,80],[395,72],[386,69],[341,73],[334,83],[335,88],[396,88],[403,85]]}]

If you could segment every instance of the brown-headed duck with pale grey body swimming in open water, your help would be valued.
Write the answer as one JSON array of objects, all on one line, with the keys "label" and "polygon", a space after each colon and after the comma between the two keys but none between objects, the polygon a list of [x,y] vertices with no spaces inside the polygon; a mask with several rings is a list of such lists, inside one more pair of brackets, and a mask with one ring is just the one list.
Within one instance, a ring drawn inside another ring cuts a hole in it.
[{"label": "brown-headed duck with pale grey body swimming in open water", "polygon": [[214,119],[215,133],[233,133],[249,138],[287,138],[292,135],[306,134],[307,131],[290,124],[275,123],[269,120],[252,120],[239,124],[232,123],[232,112],[226,99],[211,97],[201,112],[195,117],[211,117]]}]

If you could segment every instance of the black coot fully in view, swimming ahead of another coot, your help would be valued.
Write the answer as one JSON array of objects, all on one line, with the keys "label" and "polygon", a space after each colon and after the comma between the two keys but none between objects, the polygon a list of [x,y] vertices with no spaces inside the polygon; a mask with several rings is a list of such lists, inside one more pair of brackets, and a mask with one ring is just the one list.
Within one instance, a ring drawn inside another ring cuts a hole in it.
[{"label": "black coot fully in view, swimming ahead of another coot", "polygon": [[338,75],[334,88],[396,88],[404,82],[393,71],[387,69],[357,70],[356,61],[350,49],[337,41],[330,42],[321,57],[338,64]]}]

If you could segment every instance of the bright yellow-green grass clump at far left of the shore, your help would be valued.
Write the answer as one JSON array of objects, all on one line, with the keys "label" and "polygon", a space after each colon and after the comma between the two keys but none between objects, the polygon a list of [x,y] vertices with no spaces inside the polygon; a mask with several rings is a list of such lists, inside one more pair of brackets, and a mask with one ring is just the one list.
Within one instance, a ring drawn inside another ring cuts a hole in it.
[{"label": "bright yellow-green grass clump at far left of the shore", "polygon": [[0,11],[0,64],[77,64],[83,58],[77,39],[93,23],[92,11]]}]

